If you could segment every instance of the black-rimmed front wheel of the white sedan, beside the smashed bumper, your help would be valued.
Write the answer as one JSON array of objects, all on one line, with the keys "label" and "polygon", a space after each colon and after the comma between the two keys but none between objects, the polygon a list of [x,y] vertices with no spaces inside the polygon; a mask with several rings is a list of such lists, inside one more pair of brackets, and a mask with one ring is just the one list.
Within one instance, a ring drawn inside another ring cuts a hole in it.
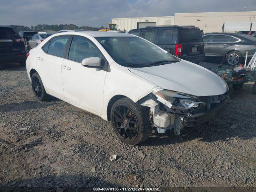
[{"label": "black-rimmed front wheel of the white sedan, beside the smashed bumper", "polygon": [[126,144],[139,144],[147,140],[152,132],[146,108],[129,98],[117,100],[110,114],[116,136]]}]

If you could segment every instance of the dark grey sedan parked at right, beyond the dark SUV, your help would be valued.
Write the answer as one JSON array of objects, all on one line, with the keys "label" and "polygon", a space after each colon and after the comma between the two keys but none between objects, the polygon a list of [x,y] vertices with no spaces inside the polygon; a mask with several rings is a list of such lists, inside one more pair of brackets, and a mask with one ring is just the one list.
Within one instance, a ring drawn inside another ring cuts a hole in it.
[{"label": "dark grey sedan parked at right, beyond the dark SUV", "polygon": [[225,54],[226,64],[231,66],[244,62],[246,51],[248,61],[256,52],[256,38],[237,33],[211,33],[203,35],[206,60],[222,61]]}]

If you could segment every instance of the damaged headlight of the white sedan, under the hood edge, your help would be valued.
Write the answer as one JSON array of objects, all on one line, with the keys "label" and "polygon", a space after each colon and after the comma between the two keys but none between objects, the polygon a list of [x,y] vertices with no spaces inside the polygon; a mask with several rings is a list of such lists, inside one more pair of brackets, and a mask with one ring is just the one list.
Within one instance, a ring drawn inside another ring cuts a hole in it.
[{"label": "damaged headlight of the white sedan, under the hood edge", "polygon": [[173,105],[179,108],[196,109],[201,103],[198,99],[192,96],[186,96],[182,93],[177,93],[169,90],[160,90],[154,93],[160,102],[171,108]]}]

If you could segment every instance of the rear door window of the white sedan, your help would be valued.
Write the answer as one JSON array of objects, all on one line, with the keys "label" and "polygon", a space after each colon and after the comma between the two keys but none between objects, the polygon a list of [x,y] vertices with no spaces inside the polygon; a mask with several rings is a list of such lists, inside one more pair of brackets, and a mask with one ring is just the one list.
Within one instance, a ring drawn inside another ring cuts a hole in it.
[{"label": "rear door window of the white sedan", "polygon": [[68,36],[52,38],[48,48],[48,54],[64,57],[68,38]]}]

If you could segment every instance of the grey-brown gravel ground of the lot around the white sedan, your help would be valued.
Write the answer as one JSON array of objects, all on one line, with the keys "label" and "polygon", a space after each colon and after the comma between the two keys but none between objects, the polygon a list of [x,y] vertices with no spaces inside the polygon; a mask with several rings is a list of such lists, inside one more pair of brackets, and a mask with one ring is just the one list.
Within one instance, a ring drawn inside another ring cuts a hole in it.
[{"label": "grey-brown gravel ground of the lot around the white sedan", "polygon": [[[255,190],[256,95],[251,88],[249,83],[234,91],[228,108],[208,124],[184,130],[180,136],[153,131],[146,142],[129,146],[116,138],[110,122],[98,116],[54,98],[36,101],[26,68],[4,65],[0,69],[2,189],[229,186]],[[110,161],[115,154],[117,159]]]}]

